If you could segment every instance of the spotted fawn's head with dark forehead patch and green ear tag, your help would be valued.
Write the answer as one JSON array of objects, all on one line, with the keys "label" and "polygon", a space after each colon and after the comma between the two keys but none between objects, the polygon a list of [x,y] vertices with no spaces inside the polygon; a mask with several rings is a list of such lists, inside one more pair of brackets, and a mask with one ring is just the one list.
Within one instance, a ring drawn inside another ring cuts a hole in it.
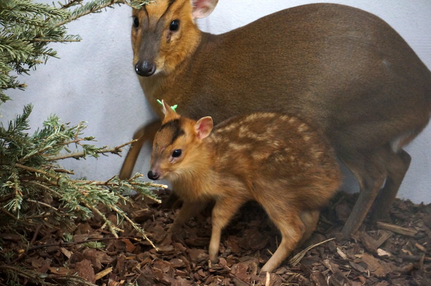
[{"label": "spotted fawn's head with dark forehead patch and green ear tag", "polygon": [[152,180],[190,174],[196,162],[203,159],[202,140],[213,127],[209,116],[195,121],[175,113],[163,100],[162,104],[165,118],[154,137],[148,171],[148,178]]}]

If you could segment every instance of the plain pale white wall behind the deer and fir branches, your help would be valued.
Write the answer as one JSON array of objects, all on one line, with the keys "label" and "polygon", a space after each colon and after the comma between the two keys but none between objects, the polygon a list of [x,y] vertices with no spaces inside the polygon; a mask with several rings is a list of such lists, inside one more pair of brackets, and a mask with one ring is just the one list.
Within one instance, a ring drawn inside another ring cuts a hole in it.
[{"label": "plain pale white wall behind the deer and fir branches", "polygon": [[[51,0],[45,0],[51,3]],[[334,2],[372,12],[397,30],[431,68],[431,1],[429,0],[220,0],[214,12],[199,21],[204,31],[222,33],[245,25],[263,15],[311,2]],[[33,103],[33,127],[39,127],[56,113],[65,122],[88,121],[86,135],[95,136],[98,145],[116,146],[131,139],[133,132],[154,116],[147,106],[133,71],[130,47],[131,9],[127,6],[88,15],[69,24],[70,34],[79,34],[81,43],[54,44],[61,59],[51,58],[31,76],[23,76],[25,92],[8,91],[13,98],[0,106],[2,122]],[[406,148],[412,164],[399,191],[399,197],[415,202],[431,202],[431,127]],[[147,173],[149,148],[141,153],[135,171]],[[77,162],[61,162],[78,176],[107,179],[117,174],[124,157],[110,155]],[[350,178],[351,179],[351,178]],[[347,183],[351,188],[356,186]]]}]

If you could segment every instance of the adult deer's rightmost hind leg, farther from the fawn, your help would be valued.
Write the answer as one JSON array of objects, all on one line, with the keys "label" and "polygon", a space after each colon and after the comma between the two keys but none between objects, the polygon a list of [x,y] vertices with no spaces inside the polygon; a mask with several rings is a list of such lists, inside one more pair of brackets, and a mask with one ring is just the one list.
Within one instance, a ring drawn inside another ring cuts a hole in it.
[{"label": "adult deer's rightmost hind leg, farther from the fawn", "polygon": [[394,153],[390,149],[387,152],[387,178],[385,186],[377,195],[371,211],[373,221],[387,218],[390,207],[395,200],[398,189],[412,160],[412,157],[402,149],[397,153]]}]

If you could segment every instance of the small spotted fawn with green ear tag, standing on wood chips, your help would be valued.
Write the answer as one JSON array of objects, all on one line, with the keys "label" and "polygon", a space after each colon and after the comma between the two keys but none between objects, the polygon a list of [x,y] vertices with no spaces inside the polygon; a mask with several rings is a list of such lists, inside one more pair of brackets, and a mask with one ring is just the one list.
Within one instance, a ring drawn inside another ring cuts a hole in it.
[{"label": "small spotted fawn with green ear tag, standing on wood chips", "polygon": [[[183,198],[170,232],[215,200],[209,257],[215,262],[221,230],[244,202],[256,200],[279,228],[282,241],[262,271],[272,271],[316,229],[319,209],[341,182],[335,154],[297,117],[253,113],[198,121],[168,106],[156,133],[150,179],[166,178]],[[209,136],[208,136],[209,135]]]}]

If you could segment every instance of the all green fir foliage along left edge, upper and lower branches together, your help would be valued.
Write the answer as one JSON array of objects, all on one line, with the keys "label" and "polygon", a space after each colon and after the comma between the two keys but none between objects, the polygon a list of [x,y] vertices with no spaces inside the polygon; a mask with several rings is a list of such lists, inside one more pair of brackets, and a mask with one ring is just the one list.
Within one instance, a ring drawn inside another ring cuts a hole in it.
[{"label": "all green fir foliage along left edge, upper and lower branches together", "polygon": [[[47,5],[30,0],[0,0],[0,116],[1,104],[11,99],[8,89],[26,87],[19,81],[19,74],[29,74],[49,57],[56,57],[56,51],[49,47],[51,42],[80,40],[77,35],[67,34],[67,23],[115,4],[138,8],[149,2],[68,0]],[[144,230],[121,207],[132,203],[129,198],[132,193],[159,201],[151,189],[166,186],[139,180],[141,174],[128,180],[117,176],[106,181],[75,178],[71,170],[58,164],[64,159],[119,154],[130,142],[114,148],[95,147],[91,144],[94,138],[83,134],[84,122],[70,126],[55,115],[41,128],[30,132],[31,110],[31,105],[25,106],[22,114],[2,120],[7,123],[0,125],[0,234],[16,235],[20,245],[31,249],[30,236],[38,232],[36,229],[63,229],[63,235],[67,236],[67,230],[76,221],[98,215],[113,237],[117,237],[120,223],[124,221],[152,244]],[[101,210],[116,213],[117,220],[109,220]],[[59,239],[67,241],[66,237]],[[22,253],[5,248],[3,242],[0,236],[1,285],[21,285],[28,280],[41,285],[55,284],[52,281],[65,285],[91,284],[75,275],[46,275],[25,265],[13,264],[20,260]],[[103,247],[103,244],[97,245]]]}]

